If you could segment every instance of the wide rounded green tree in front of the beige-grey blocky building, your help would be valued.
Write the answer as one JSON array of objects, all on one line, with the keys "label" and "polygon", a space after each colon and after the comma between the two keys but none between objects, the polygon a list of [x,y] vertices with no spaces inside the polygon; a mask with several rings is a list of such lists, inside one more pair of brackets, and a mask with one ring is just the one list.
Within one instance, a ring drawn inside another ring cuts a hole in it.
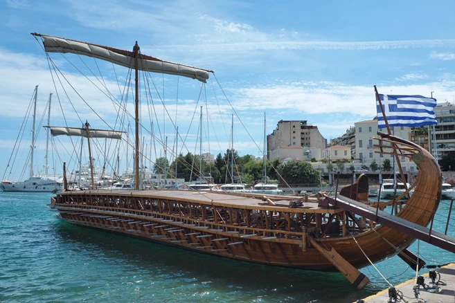
[{"label": "wide rounded green tree in front of the beige-grey blocky building", "polygon": [[296,161],[281,165],[280,175],[288,184],[319,184],[320,178],[320,172],[310,163]]}]

